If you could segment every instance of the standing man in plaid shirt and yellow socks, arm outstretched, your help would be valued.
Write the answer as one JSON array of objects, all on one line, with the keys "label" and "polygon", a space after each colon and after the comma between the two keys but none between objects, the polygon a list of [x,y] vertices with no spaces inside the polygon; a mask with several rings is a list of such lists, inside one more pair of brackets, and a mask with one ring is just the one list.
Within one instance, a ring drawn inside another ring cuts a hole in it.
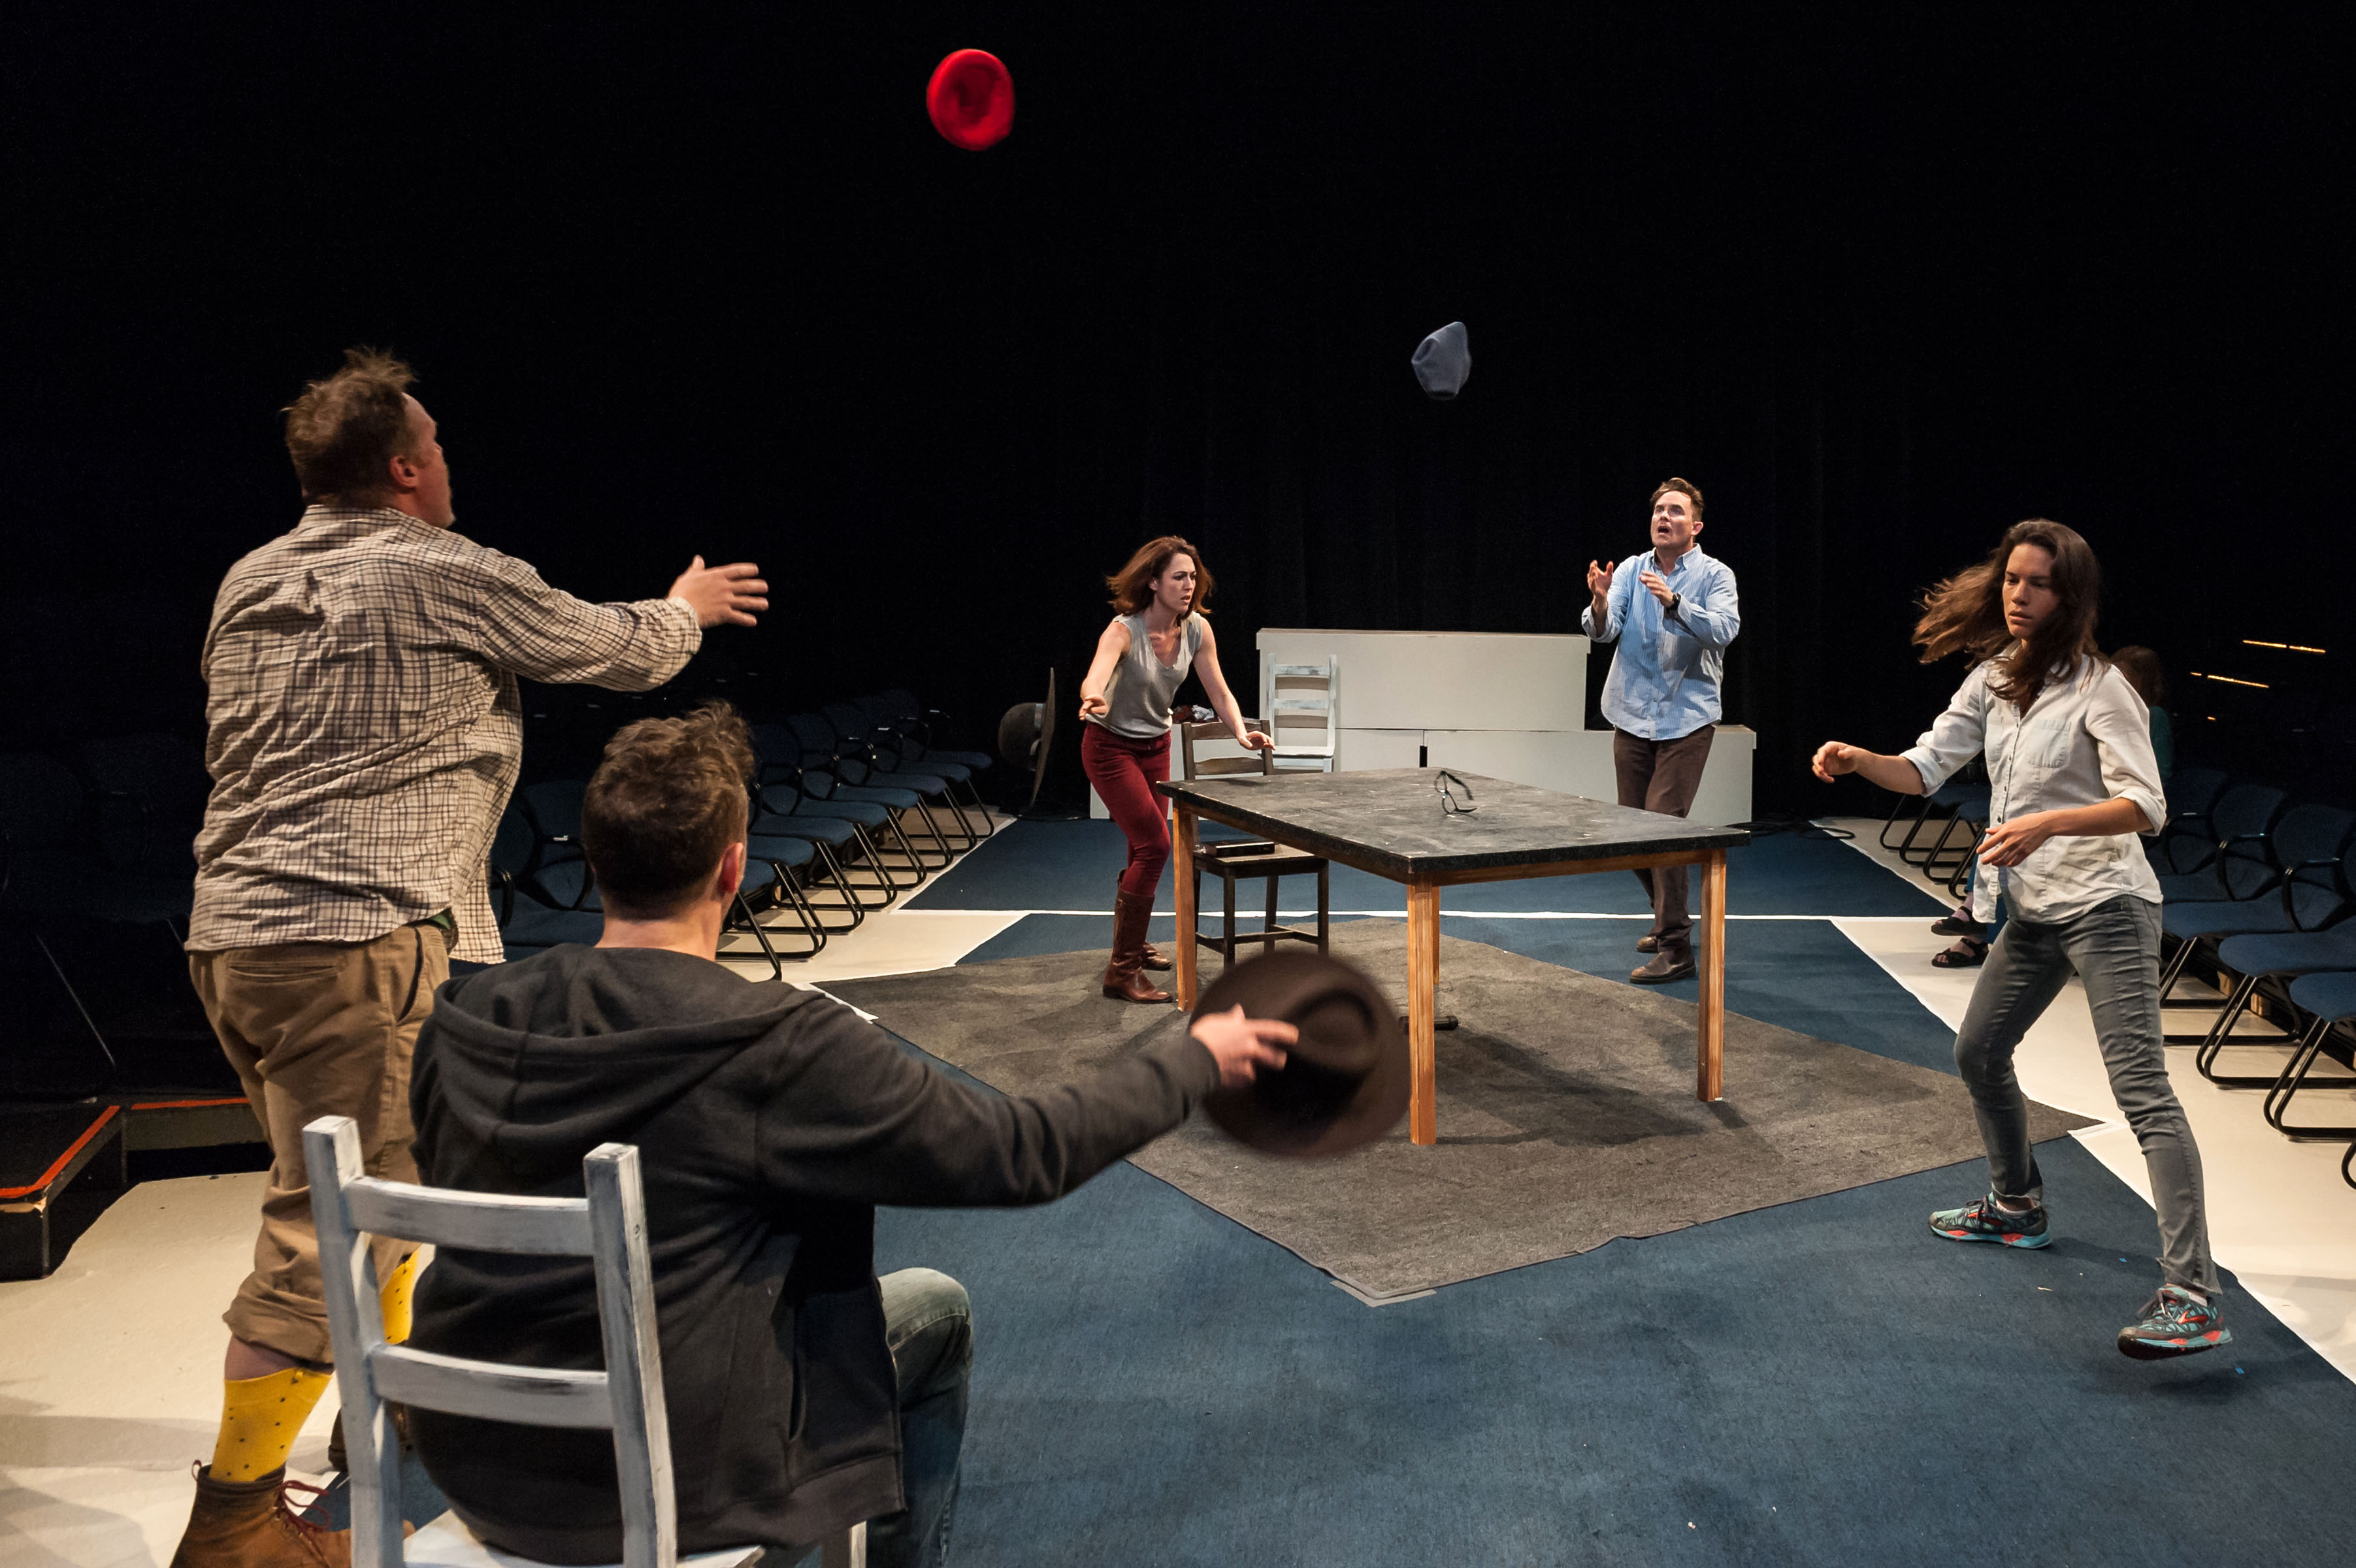
[{"label": "standing man in plaid shirt and yellow socks, arm outstretched", "polygon": [[[346,1563],[280,1481],[335,1358],[302,1128],[360,1123],[368,1172],[415,1182],[410,1050],[450,958],[497,963],[490,838],[523,756],[516,676],[662,685],[768,586],[702,556],[667,598],[589,605],[450,530],[450,469],[408,365],[365,348],[287,410],[309,504],[238,560],[205,636],[212,800],[188,972],[271,1140],[254,1271],[212,1464],[174,1568]],[[377,1241],[386,1330],[415,1257]]]}]

